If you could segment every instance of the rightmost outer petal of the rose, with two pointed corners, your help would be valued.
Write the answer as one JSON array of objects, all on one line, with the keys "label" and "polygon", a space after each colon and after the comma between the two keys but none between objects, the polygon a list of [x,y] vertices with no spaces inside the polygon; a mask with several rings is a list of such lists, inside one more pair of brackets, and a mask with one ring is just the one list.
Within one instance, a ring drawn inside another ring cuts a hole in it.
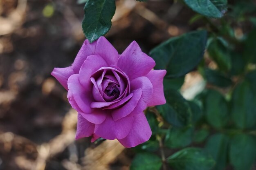
[{"label": "rightmost outer petal of the rose, with two pointed corners", "polygon": [[164,97],[164,85],[163,80],[166,74],[166,70],[151,70],[146,77],[150,79],[153,85],[153,94],[148,103],[148,106],[156,106],[165,104],[166,100]]}]

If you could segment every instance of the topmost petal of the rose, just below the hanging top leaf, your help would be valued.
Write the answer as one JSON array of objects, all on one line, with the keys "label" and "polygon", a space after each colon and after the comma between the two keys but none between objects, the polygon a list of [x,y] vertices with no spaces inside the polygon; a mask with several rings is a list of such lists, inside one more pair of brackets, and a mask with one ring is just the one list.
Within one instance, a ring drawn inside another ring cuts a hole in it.
[{"label": "topmost petal of the rose, just below the hanging top leaf", "polygon": [[101,57],[103,57],[103,59],[108,63],[108,66],[111,64],[116,65],[119,57],[115,47],[112,46],[105,37],[100,37],[97,40],[95,54],[101,55]]}]

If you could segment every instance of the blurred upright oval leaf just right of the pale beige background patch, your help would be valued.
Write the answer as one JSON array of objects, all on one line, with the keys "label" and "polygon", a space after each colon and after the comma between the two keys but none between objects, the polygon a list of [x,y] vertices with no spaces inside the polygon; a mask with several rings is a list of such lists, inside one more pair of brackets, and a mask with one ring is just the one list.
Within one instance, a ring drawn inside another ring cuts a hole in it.
[{"label": "blurred upright oval leaf just right of the pale beige background patch", "polygon": [[224,127],[228,121],[228,105],[221,93],[209,90],[204,101],[206,119],[215,128]]}]

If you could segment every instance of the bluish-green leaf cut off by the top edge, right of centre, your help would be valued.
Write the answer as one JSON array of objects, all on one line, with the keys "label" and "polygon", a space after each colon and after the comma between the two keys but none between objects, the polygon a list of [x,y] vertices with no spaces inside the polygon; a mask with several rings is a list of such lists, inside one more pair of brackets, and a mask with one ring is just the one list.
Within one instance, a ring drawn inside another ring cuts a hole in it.
[{"label": "bluish-green leaf cut off by the top edge, right of centre", "polygon": [[227,0],[184,0],[195,12],[210,18],[221,18],[227,11]]}]

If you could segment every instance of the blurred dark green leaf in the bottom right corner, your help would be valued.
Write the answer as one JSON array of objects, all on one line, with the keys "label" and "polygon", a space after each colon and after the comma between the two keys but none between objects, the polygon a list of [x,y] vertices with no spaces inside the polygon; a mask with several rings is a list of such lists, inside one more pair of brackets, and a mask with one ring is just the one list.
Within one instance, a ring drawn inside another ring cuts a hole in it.
[{"label": "blurred dark green leaf in the bottom right corner", "polygon": [[229,160],[235,170],[250,170],[256,159],[256,140],[249,135],[236,135],[230,144]]}]

